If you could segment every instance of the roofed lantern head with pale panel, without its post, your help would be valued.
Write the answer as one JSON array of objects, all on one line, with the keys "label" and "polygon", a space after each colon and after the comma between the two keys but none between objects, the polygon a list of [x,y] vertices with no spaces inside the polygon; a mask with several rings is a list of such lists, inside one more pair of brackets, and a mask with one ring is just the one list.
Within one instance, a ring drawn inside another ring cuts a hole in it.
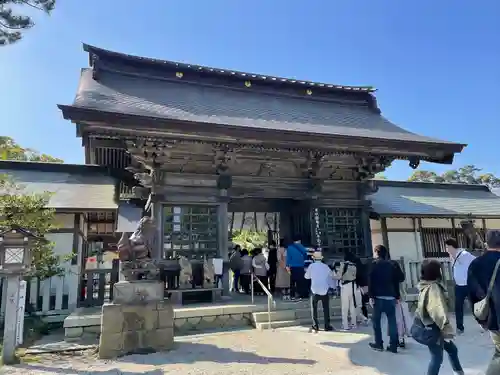
[{"label": "roofed lantern head with pale panel, without its post", "polygon": [[14,226],[0,232],[0,274],[23,274],[31,269],[31,248],[38,237]]}]

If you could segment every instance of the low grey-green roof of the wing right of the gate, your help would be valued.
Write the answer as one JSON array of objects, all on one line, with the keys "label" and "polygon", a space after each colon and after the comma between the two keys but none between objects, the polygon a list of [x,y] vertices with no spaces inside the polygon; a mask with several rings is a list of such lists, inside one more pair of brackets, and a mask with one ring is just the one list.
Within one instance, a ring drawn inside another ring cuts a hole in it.
[{"label": "low grey-green roof of the wing right of the gate", "polygon": [[486,186],[377,181],[368,198],[384,216],[500,217],[500,197]]}]

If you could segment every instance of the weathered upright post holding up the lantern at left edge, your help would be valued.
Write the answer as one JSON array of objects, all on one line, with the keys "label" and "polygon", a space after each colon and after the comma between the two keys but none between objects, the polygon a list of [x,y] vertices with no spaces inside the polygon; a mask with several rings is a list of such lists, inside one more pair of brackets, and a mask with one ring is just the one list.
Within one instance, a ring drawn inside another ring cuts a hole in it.
[{"label": "weathered upright post holding up the lantern at left edge", "polygon": [[7,295],[4,297],[6,306],[3,331],[2,360],[4,364],[12,364],[16,360],[16,320],[21,277],[19,275],[9,275],[8,277],[6,277],[6,282]]}]

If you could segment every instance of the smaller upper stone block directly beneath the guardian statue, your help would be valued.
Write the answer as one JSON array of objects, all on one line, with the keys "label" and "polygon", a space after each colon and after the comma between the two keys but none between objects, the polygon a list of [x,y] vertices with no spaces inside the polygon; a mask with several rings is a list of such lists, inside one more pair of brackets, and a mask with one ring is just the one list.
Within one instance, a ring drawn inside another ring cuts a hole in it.
[{"label": "smaller upper stone block directly beneath the guardian statue", "polygon": [[134,304],[161,301],[164,289],[160,281],[119,281],[113,285],[113,302]]}]

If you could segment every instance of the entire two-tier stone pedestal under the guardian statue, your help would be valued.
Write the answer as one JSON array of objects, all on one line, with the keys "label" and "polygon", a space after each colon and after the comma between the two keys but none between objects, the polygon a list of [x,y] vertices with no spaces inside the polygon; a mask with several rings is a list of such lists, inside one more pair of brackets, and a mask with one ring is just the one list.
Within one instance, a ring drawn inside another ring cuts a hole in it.
[{"label": "entire two-tier stone pedestal under the guardian statue", "polygon": [[163,283],[120,281],[113,293],[113,303],[102,307],[99,358],[172,348],[174,311],[172,303],[163,300]]}]

